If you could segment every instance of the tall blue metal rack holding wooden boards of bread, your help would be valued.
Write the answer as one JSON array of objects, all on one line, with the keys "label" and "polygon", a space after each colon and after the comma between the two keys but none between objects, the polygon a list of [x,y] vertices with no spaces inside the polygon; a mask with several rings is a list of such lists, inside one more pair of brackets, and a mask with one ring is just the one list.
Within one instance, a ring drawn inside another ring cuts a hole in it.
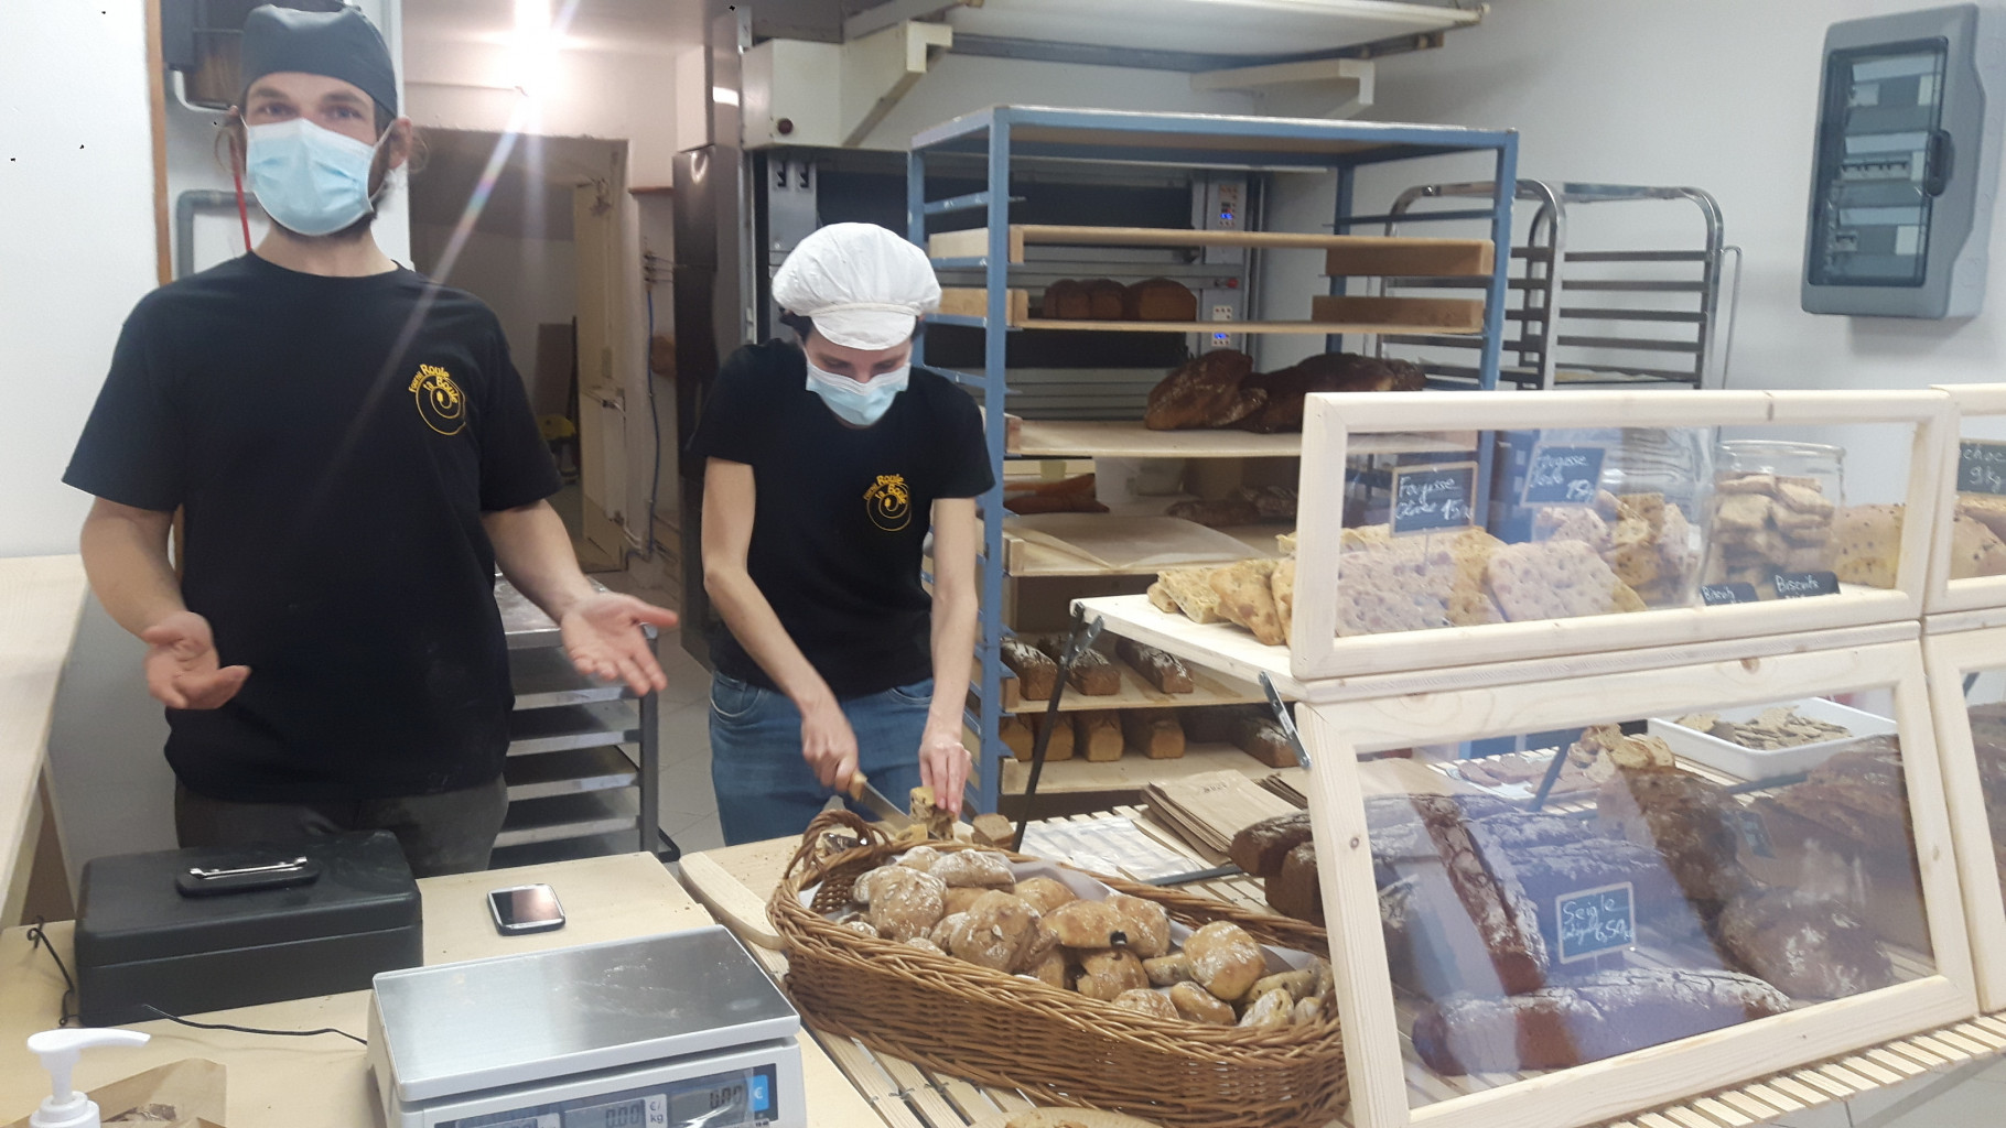
[{"label": "tall blue metal rack holding wooden boards of bread", "polygon": [[[1003,463],[1013,457],[1009,449],[1005,399],[1009,393],[1005,373],[1005,337],[1017,329],[1039,329],[1027,315],[1025,291],[1011,291],[1013,270],[1023,272],[1023,240],[1027,232],[1011,226],[1011,166],[1019,160],[1063,160],[1087,164],[1155,164],[1174,168],[1238,168],[1238,170],[1326,170],[1336,178],[1336,212],[1332,234],[1282,234],[1282,232],[1236,232],[1240,236],[1268,236],[1290,246],[1344,244],[1356,228],[1386,224],[1390,214],[1354,214],[1354,178],[1366,164],[1392,160],[1412,160],[1454,152],[1492,154],[1496,184],[1517,184],[1519,136],[1513,130],[1474,130],[1452,126],[1410,126],[1348,120],[1294,120],[1294,118],[1240,118],[1210,114],[1151,114],[1123,110],[1055,110],[1037,106],[993,106],[965,114],[913,138],[907,160],[907,234],[919,246],[929,246],[927,224],[933,216],[955,212],[983,212],[981,234],[967,230],[951,232],[957,238],[953,252],[935,254],[933,264],[941,270],[981,270],[981,291],[959,295],[973,301],[981,313],[937,315],[941,325],[963,325],[983,331],[983,371],[947,373],[951,379],[979,393],[985,409],[985,443],[991,465],[997,471],[995,487],[983,497],[983,553],[981,553],[981,627],[977,637],[979,673],[973,685],[975,703],[967,711],[967,725],[977,733],[979,753],[975,771],[977,809],[995,809],[1001,793],[1001,759],[1007,755],[997,737],[997,721],[1003,713]],[[949,158],[967,162],[979,158],[987,162],[985,186],[951,198],[927,198],[927,160]],[[1484,285],[1482,323],[1476,339],[1478,387],[1494,387],[1498,375],[1500,347],[1504,335],[1509,246],[1511,246],[1511,192],[1492,192],[1484,206],[1460,208],[1452,212],[1428,212],[1402,216],[1404,222],[1480,218],[1490,224],[1490,244],[1494,260]],[[1133,228],[1111,228],[1137,236]],[[1192,246],[1208,244],[1214,232],[1178,232],[1161,238],[1176,238]],[[1037,238],[1033,232],[1031,238]],[[1079,236],[1069,236],[1079,238]],[[1394,242],[1394,240],[1388,240]],[[971,252],[973,250],[973,252]],[[1356,272],[1354,272],[1356,276]],[[1330,278],[1330,299],[1346,299],[1346,278]],[[1322,299],[1318,299],[1320,303]],[[1316,303],[1312,303],[1316,305]],[[1334,309],[1334,307],[1332,307]],[[1204,313],[1204,311],[1202,311]],[[1031,325],[1027,325],[1031,323]],[[1392,333],[1400,325],[1368,325],[1354,319],[1330,317],[1324,321],[1260,321],[1252,317],[1240,323],[1202,325],[1105,325],[1107,331],[1214,331],[1232,325],[1232,333],[1300,333],[1326,337],[1326,349],[1342,347],[1342,335],[1350,333]],[[1081,323],[1051,323],[1045,327],[1083,329]],[[1408,327],[1410,329],[1410,327]],[[925,339],[921,339],[921,349]],[[925,355],[915,357],[925,363]],[[1063,429],[1047,425],[1045,431],[1057,439],[1039,447],[1035,457],[1079,457],[1089,459],[1109,453],[1099,441],[1081,443],[1079,449],[1065,449]],[[1212,433],[1202,433],[1212,437]],[[1222,435],[1224,437],[1224,435]],[[1242,447],[1260,447],[1260,453],[1296,453],[1296,449],[1274,449],[1270,435],[1242,435],[1250,443],[1188,443],[1192,433],[1149,433],[1131,425],[1121,435],[1127,449],[1157,451],[1163,457],[1242,457]],[[1260,443],[1252,443],[1260,441]]]}]

